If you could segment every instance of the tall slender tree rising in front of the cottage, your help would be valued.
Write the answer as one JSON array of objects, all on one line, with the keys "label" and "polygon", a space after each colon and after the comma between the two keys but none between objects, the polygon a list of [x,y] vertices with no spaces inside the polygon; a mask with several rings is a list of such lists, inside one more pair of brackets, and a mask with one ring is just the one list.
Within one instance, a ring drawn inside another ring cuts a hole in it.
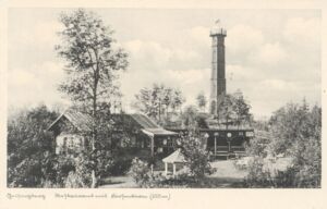
[{"label": "tall slender tree rising in front of the cottage", "polygon": [[[56,49],[66,62],[68,81],[60,85],[59,90],[92,116],[90,145],[94,151],[101,118],[99,106],[120,97],[116,79],[118,72],[128,66],[128,54],[114,46],[113,30],[94,13],[78,9],[71,14],[62,13],[60,22],[64,26],[60,32],[62,45]],[[94,173],[93,187],[96,184]]]}]

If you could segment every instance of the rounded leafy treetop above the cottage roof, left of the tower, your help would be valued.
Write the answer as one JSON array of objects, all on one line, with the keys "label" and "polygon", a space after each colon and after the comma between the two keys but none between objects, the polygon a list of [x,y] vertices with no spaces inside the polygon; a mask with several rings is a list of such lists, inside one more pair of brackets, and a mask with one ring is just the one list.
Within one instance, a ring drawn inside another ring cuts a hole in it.
[{"label": "rounded leafy treetop above the cottage roof, left of the tower", "polygon": [[134,107],[164,124],[170,119],[169,113],[175,113],[184,103],[185,99],[179,89],[173,89],[165,85],[154,84],[152,88],[143,88],[135,95]]}]

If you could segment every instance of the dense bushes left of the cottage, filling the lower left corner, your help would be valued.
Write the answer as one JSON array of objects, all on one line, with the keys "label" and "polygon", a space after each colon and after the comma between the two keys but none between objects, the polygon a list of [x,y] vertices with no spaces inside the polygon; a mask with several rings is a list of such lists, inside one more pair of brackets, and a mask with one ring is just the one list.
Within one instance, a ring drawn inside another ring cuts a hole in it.
[{"label": "dense bushes left of the cottage, filling the lower left corner", "polygon": [[104,152],[97,153],[94,159],[88,158],[86,153],[81,153],[77,158],[56,156],[53,137],[45,130],[57,116],[58,113],[40,106],[23,110],[9,119],[8,186],[63,187],[69,185],[66,181],[71,181],[72,186],[73,176],[78,176],[78,180],[83,181],[83,187],[86,187],[89,186],[93,164],[97,165],[99,176],[110,170],[111,156]]}]

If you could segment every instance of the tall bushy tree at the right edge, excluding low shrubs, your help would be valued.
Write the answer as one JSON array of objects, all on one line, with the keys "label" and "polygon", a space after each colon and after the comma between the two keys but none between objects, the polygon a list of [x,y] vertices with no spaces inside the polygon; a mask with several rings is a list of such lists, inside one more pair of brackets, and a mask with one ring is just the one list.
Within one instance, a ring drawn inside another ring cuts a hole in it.
[{"label": "tall bushy tree at the right edge, excluding low shrubs", "polygon": [[322,109],[310,110],[302,104],[289,103],[279,109],[270,120],[271,151],[286,152],[294,158],[296,186],[316,187],[322,179]]}]

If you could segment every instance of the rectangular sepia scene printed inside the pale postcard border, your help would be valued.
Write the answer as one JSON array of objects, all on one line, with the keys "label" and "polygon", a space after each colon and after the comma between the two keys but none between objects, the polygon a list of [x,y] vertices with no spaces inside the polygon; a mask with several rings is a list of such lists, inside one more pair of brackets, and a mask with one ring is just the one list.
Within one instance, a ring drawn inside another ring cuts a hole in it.
[{"label": "rectangular sepia scene printed inside the pale postcard border", "polygon": [[10,8],[7,36],[7,188],[322,188],[320,10]]}]

